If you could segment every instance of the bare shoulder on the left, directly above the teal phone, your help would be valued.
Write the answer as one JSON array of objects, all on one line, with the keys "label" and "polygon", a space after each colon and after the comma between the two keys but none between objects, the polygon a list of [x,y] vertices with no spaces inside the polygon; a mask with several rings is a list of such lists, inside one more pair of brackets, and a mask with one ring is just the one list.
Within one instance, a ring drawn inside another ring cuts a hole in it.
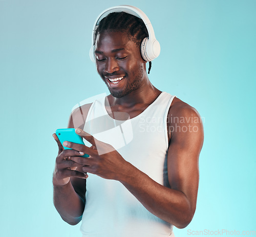
[{"label": "bare shoulder on the left, directly above the teal phone", "polygon": [[88,112],[91,108],[92,103],[82,105],[72,111],[69,117],[68,128],[80,128],[83,129],[84,123],[86,122],[86,118]]}]

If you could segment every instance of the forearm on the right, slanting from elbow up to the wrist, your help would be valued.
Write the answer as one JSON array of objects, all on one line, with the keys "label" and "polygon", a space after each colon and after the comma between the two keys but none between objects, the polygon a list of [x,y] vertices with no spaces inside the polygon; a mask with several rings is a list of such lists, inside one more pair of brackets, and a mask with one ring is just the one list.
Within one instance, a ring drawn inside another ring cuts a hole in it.
[{"label": "forearm on the right, slanting from elbow up to the wrist", "polygon": [[194,211],[182,192],[155,182],[130,163],[126,171],[119,181],[148,211],[178,228],[189,224]]}]

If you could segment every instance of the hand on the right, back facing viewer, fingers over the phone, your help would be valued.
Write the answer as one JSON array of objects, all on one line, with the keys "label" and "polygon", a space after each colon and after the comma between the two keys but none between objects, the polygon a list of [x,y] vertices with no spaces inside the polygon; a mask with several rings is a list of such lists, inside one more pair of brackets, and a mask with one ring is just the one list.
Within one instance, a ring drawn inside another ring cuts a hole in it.
[{"label": "hand on the right, back facing viewer, fingers over the phone", "polygon": [[89,155],[89,157],[71,156],[70,159],[75,163],[82,165],[84,173],[96,174],[105,179],[119,180],[125,172],[127,161],[109,144],[95,139],[92,135],[81,129],[76,129],[76,133],[88,140],[92,147],[67,142],[67,146],[76,151]]}]

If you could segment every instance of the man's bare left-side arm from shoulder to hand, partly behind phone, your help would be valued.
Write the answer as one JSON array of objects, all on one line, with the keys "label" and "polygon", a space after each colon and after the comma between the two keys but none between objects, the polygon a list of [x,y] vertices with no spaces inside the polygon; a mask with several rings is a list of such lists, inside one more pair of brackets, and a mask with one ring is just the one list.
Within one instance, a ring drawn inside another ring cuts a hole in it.
[{"label": "man's bare left-side arm from shoulder to hand, partly behind phone", "polygon": [[[70,116],[68,128],[82,129],[90,106],[91,104],[84,105],[82,109],[78,108],[74,110]],[[55,140],[57,139],[56,134],[54,134],[54,138]],[[82,218],[85,206],[86,179],[84,179],[85,176],[82,167],[71,167],[71,162],[73,161],[63,160],[61,156],[63,149],[61,149],[61,144],[58,143],[58,145],[59,155],[56,158],[53,174],[53,202],[61,218],[71,225],[76,225]],[[65,172],[70,170],[79,173],[66,175],[68,177],[63,178]],[[82,177],[82,175],[84,177]]]}]

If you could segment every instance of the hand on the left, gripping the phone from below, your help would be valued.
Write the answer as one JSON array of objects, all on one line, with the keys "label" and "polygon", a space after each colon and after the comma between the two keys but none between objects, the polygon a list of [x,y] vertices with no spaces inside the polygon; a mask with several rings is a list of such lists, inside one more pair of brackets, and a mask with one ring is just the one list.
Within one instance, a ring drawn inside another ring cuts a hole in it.
[{"label": "hand on the left, gripping the phone from below", "polygon": [[82,165],[71,160],[71,157],[82,156],[84,153],[71,149],[65,150],[55,133],[53,137],[59,148],[53,172],[53,185],[65,185],[70,181],[70,177],[87,178],[86,173],[76,171],[76,168]]}]

